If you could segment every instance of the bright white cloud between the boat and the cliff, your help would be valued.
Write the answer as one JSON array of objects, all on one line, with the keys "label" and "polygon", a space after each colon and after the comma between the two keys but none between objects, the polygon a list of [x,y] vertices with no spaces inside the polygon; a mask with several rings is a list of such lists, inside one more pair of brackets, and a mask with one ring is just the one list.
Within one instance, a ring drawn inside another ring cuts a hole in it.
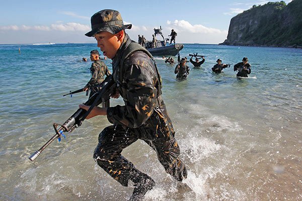
[{"label": "bright white cloud between the boat and the cliff", "polygon": [[169,26],[173,26],[173,29],[180,32],[189,33],[201,33],[201,34],[213,34],[213,33],[227,33],[228,31],[205,27],[203,25],[191,25],[185,20],[175,20],[174,22],[167,21]]}]

